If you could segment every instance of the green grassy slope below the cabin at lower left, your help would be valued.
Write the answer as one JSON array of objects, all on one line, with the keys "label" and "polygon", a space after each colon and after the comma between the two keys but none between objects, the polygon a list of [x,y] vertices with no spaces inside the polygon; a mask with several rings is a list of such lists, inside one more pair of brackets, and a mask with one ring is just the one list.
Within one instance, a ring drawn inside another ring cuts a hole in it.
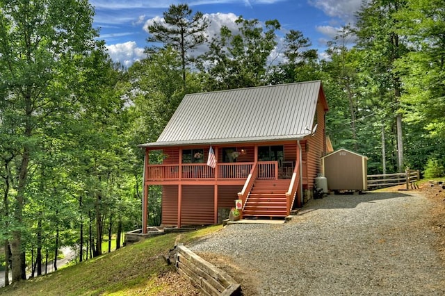
[{"label": "green grassy slope below the cabin at lower left", "polygon": [[[179,242],[186,244],[220,225],[191,233],[182,233]],[[0,295],[156,295],[163,287],[154,281],[172,265],[161,255],[175,245],[177,233],[171,233],[129,245],[86,262],[62,268],[44,277],[0,288]]]}]

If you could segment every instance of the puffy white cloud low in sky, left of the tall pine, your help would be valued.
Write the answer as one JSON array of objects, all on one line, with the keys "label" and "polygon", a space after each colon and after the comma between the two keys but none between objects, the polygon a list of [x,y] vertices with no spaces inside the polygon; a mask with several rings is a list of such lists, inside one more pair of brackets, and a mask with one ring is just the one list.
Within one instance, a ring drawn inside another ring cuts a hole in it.
[{"label": "puffy white cloud low in sky, left of the tall pine", "polygon": [[137,60],[145,58],[144,49],[138,47],[134,41],[106,45],[106,49],[111,59],[124,67],[129,67]]}]

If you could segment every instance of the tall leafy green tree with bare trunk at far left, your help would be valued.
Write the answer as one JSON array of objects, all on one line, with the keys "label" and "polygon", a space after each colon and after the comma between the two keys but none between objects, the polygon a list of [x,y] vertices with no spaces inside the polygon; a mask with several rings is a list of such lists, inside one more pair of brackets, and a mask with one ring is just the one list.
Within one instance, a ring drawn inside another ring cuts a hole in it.
[{"label": "tall leafy green tree with bare trunk at far left", "polygon": [[24,277],[23,209],[29,165],[38,151],[39,131],[54,115],[70,113],[76,67],[95,47],[93,10],[86,0],[0,2],[0,97],[17,151],[17,195],[10,240],[13,281]]}]

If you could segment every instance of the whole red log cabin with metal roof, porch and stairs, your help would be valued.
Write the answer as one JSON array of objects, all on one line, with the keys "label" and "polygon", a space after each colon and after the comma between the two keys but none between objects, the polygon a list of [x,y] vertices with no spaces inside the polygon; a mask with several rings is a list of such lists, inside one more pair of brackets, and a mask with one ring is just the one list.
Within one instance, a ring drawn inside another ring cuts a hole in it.
[{"label": "whole red log cabin with metal roof, porch and stairs", "polygon": [[166,227],[216,224],[236,199],[243,218],[286,217],[321,172],[327,110],[321,81],[186,94],[159,139],[139,145],[143,232],[150,186],[162,186]]}]

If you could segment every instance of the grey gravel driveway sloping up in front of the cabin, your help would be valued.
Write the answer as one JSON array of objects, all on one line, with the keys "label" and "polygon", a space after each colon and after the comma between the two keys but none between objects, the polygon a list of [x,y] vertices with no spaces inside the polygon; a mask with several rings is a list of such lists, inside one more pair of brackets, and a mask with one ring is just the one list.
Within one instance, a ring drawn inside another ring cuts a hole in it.
[{"label": "grey gravel driveway sloping up in front of the cabin", "polygon": [[240,268],[245,295],[445,295],[432,206],[415,192],[329,195],[291,222],[232,224],[190,248]]}]

